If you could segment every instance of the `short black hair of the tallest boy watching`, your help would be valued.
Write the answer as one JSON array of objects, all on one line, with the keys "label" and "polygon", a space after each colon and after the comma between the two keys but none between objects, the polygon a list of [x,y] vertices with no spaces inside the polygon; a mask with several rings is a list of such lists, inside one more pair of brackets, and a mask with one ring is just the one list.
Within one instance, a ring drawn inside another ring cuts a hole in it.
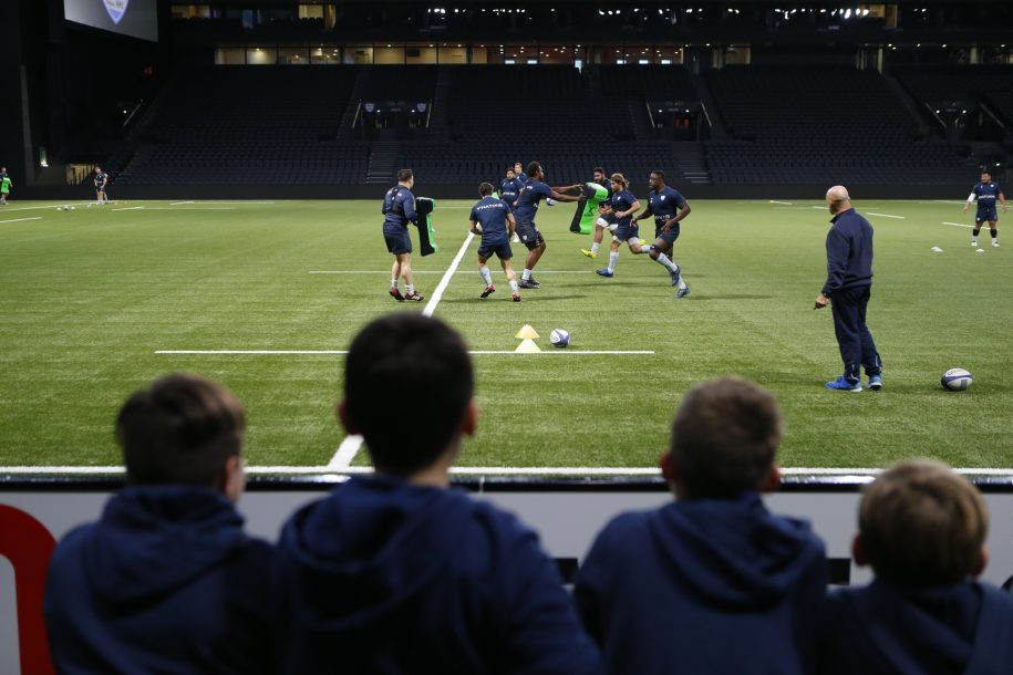
[{"label": "short black hair of the tallest boy watching", "polygon": [[376,469],[431,466],[461,428],[474,393],[461,335],[436,319],[392,314],[366,325],[345,360],[344,404]]}]

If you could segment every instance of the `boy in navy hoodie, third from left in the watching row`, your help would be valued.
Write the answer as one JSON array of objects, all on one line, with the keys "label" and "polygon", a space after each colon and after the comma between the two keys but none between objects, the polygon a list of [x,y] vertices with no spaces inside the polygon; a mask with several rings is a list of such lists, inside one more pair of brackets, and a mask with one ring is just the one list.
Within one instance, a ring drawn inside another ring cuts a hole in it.
[{"label": "boy in navy hoodie, third from left in the watching row", "polygon": [[661,460],[676,500],[613,519],[577,577],[610,673],[810,671],[824,546],[759,498],[779,482],[781,426],[774,398],[745,380],[686,394]]}]

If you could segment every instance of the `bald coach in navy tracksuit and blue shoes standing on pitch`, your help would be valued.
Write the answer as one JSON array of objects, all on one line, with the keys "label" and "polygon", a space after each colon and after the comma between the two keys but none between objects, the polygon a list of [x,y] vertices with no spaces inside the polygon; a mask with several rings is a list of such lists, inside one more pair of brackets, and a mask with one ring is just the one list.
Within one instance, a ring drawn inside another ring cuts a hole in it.
[{"label": "bald coach in navy tracksuit and blue shoes standing on pitch", "polygon": [[845,364],[844,375],[827,383],[829,390],[861,391],[860,366],[869,388],[882,388],[882,361],[866,325],[866,307],[872,288],[872,226],[851,207],[844,186],[827,190],[834,226],[827,232],[827,281],[816,307],[834,307],[834,332]]}]

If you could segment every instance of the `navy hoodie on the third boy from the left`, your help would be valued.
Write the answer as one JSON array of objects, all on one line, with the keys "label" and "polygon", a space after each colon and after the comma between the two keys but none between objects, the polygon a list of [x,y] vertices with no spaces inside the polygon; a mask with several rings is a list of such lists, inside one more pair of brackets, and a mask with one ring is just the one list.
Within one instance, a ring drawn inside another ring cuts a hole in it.
[{"label": "navy hoodie on the third boy from the left", "polygon": [[575,600],[609,673],[810,671],[826,593],[823,542],[755,492],[618,516],[577,575]]}]

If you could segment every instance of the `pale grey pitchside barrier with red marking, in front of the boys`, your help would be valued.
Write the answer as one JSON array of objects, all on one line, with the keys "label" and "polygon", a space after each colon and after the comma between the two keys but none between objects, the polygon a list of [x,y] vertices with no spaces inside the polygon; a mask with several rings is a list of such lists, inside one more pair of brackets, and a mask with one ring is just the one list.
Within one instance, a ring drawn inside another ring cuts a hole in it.
[{"label": "pale grey pitchside barrier with red marking, in front of the boys", "polygon": [[[787,477],[766,498],[778,513],[808,519],[827,543],[830,581],[865,583],[868,570],[850,560],[861,485],[868,476]],[[239,510],[248,530],[277,540],[299,506],[323,496],[342,476],[251,477]],[[973,478],[992,515],[991,561],[984,578],[1003,583],[1013,574],[1013,480]],[[121,479],[25,478],[0,475],[0,673],[51,673],[42,625],[42,592],[53,546],[75,526],[99,518]],[[651,509],[671,496],[659,479],[516,480],[472,478],[455,481],[478,499],[517,513],[540,534],[564,578],[572,580],[595,534],[614,515]]]}]

